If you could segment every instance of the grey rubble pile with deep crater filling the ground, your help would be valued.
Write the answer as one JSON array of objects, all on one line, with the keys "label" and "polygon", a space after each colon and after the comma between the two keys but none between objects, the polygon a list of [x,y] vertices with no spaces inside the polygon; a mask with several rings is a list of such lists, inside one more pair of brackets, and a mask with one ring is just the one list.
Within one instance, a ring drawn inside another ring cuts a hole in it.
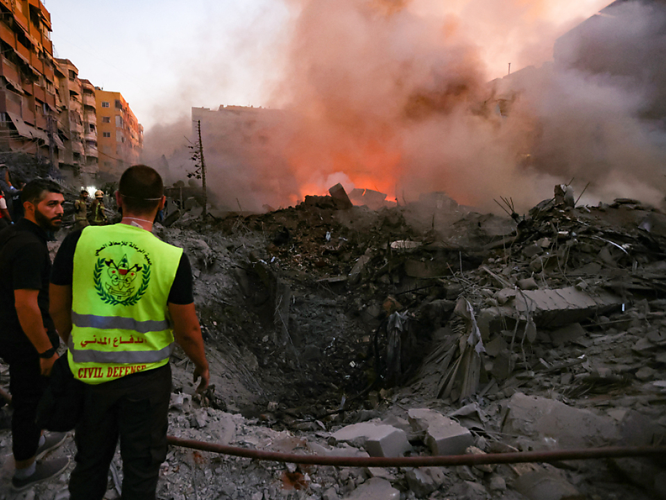
[{"label": "grey rubble pile with deep crater filling the ground", "polygon": [[[379,457],[666,442],[666,215],[628,199],[574,207],[562,188],[524,217],[441,196],[370,210],[331,194],[156,228],[193,264],[212,374],[194,394],[175,353],[170,434]],[[0,447],[7,476],[8,431]],[[108,499],[119,497],[114,464]],[[66,482],[33,498],[58,498]],[[158,498],[600,500],[665,489],[663,459],[324,467],[172,447]]]}]

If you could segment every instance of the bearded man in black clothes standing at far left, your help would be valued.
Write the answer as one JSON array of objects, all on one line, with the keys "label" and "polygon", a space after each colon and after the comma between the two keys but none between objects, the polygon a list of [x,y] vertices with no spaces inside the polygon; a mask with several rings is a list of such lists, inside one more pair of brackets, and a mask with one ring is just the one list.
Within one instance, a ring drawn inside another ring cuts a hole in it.
[{"label": "bearded man in black clothes standing at far left", "polygon": [[49,316],[51,259],[46,231],[62,222],[62,192],[37,179],[22,193],[25,217],[0,232],[0,357],[9,364],[12,392],[12,451],[15,490],[25,490],[60,474],[69,458],[37,464],[65,440],[64,433],[42,436],[35,424],[37,403],[58,359],[58,335]]}]

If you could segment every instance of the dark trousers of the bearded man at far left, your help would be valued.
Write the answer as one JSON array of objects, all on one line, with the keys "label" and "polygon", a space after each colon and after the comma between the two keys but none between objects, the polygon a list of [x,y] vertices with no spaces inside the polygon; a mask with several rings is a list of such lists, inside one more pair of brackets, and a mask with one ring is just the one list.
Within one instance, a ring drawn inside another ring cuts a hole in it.
[{"label": "dark trousers of the bearded man at far left", "polygon": [[15,460],[28,460],[35,456],[40,445],[42,429],[35,424],[35,418],[37,404],[49,379],[42,376],[40,358],[32,346],[3,346],[0,357],[9,365],[9,390],[14,408],[12,452]]}]

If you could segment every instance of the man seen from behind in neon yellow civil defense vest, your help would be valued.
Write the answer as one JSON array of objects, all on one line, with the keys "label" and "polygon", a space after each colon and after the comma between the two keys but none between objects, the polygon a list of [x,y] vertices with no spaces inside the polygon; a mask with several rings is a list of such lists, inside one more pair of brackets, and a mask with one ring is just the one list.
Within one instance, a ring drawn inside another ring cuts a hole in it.
[{"label": "man seen from behind in neon yellow civil defense vest", "polygon": [[167,456],[174,341],[194,362],[198,390],[209,380],[189,260],[151,233],[164,206],[160,174],[128,168],[116,201],[121,222],[68,235],[51,274],[51,316],[72,374],[85,383],[71,500],[103,498],[119,438],[123,499],[155,499]]}]

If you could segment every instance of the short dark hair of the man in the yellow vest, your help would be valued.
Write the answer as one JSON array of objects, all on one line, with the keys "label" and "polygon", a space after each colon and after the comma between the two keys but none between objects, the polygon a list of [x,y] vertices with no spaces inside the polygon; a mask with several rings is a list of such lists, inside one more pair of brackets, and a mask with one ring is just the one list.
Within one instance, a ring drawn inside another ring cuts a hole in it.
[{"label": "short dark hair of the man in the yellow vest", "polygon": [[133,165],[120,178],[118,188],[123,206],[130,212],[150,213],[159,206],[164,195],[162,177],[148,165]]}]

